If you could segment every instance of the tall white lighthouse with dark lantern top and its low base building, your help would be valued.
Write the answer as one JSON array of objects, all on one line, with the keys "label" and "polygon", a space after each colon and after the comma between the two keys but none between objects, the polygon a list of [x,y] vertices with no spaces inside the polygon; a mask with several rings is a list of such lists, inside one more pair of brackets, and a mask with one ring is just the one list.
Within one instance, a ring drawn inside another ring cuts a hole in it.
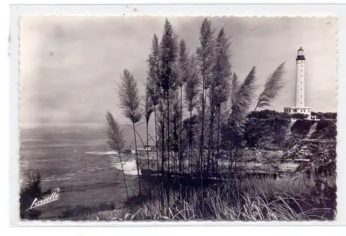
[{"label": "tall white lighthouse with dark lantern top and its low base building", "polygon": [[302,47],[298,50],[295,76],[295,104],[292,107],[285,107],[284,112],[289,114],[300,113],[308,115],[311,119],[311,107],[305,106],[305,55]]}]

